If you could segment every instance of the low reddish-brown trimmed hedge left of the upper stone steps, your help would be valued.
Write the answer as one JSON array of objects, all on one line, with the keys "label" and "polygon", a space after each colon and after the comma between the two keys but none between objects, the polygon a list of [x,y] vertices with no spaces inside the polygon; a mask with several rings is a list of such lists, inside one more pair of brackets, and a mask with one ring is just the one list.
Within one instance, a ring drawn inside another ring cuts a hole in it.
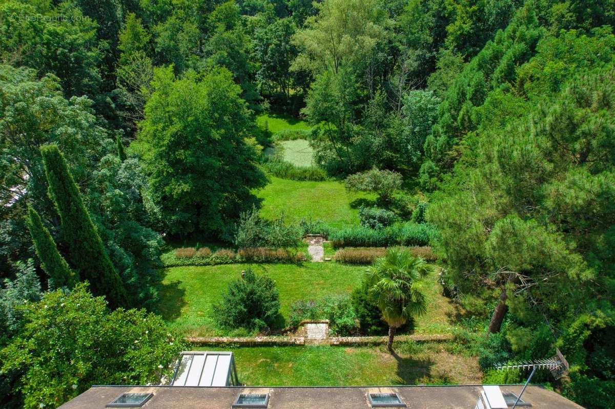
[{"label": "low reddish-brown trimmed hedge left of the upper stone steps", "polygon": [[268,249],[266,247],[250,247],[239,249],[220,249],[213,252],[207,247],[198,250],[194,247],[183,247],[166,252],[161,257],[164,267],[181,267],[188,265],[220,265],[231,263],[296,263],[306,260],[303,252],[292,252],[287,249]]}]

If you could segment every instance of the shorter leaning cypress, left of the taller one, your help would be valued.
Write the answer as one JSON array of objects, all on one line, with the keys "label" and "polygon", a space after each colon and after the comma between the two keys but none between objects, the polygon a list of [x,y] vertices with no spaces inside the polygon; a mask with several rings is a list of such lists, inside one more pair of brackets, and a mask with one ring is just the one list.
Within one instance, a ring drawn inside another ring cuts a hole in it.
[{"label": "shorter leaning cypress, left of the taller one", "polygon": [[79,282],[79,275],[68,267],[64,257],[58,252],[54,238],[49,233],[49,230],[47,230],[47,227],[42,224],[41,216],[31,206],[28,206],[26,225],[28,225],[28,230],[30,230],[36,255],[41,260],[43,270],[49,276],[50,287],[73,288]]}]

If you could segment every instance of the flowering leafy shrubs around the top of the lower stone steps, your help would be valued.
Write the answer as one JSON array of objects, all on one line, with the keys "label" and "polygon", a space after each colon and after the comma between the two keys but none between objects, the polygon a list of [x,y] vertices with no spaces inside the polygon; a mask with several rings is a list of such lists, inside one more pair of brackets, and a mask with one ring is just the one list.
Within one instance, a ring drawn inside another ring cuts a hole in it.
[{"label": "flowering leafy shrubs around the top of the lower stone steps", "polygon": [[292,303],[288,324],[296,328],[304,319],[328,319],[330,332],[341,337],[359,332],[359,322],[348,295],[328,295],[320,300]]}]

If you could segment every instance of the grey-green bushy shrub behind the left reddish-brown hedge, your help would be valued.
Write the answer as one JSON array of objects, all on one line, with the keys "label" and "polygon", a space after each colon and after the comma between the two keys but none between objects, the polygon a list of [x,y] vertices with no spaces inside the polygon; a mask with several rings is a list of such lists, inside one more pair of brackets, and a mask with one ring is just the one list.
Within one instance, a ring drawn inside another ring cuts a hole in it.
[{"label": "grey-green bushy shrub behind the left reddish-brown hedge", "polygon": [[301,240],[301,229],[287,225],[284,214],[266,220],[256,208],[243,212],[235,235],[237,247],[295,247]]}]

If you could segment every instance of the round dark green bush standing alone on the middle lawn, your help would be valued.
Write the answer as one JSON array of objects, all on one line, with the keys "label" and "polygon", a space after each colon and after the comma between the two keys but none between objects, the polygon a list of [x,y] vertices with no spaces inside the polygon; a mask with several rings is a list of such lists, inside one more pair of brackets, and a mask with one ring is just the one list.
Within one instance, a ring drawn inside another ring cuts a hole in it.
[{"label": "round dark green bush standing alone on the middle lawn", "polygon": [[222,300],[213,306],[215,319],[221,327],[263,330],[271,327],[280,310],[276,283],[268,276],[248,270],[244,276],[229,283]]}]

